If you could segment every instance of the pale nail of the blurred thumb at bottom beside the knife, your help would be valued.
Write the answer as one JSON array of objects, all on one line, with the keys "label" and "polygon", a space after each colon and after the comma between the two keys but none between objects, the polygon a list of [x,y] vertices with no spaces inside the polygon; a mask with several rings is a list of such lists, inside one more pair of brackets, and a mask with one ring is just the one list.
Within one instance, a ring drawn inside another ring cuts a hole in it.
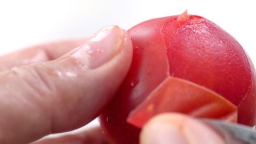
[{"label": "pale nail of the blurred thumb at bottom beside the knife", "polygon": [[146,138],[142,138],[143,144],[187,144],[186,138],[178,127],[170,124],[152,124],[147,127],[143,135],[146,135]]}]

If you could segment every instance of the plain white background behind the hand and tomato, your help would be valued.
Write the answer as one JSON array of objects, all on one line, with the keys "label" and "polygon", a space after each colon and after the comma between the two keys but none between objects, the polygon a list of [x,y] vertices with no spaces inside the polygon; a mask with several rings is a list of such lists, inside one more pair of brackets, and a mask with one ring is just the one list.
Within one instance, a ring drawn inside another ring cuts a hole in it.
[{"label": "plain white background behind the hand and tomato", "polygon": [[0,55],[27,46],[91,36],[106,25],[129,29],[188,9],[233,35],[256,65],[254,1],[0,1]]}]

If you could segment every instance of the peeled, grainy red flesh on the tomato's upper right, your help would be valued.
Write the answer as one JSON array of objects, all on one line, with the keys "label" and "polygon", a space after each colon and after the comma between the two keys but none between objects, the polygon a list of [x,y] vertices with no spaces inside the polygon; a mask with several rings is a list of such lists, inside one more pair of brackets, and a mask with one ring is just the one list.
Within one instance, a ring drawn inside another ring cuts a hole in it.
[{"label": "peeled, grainy red flesh on the tomato's upper right", "polygon": [[205,86],[239,105],[249,90],[252,70],[232,36],[194,15],[186,22],[169,21],[162,31],[172,76]]}]

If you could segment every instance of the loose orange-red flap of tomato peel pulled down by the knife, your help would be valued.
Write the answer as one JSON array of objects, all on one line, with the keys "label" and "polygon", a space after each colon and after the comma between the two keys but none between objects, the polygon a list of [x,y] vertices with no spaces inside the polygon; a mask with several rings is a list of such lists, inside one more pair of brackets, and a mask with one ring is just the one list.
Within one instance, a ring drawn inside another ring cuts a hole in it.
[{"label": "loose orange-red flap of tomato peel pulled down by the knife", "polygon": [[131,111],[127,122],[141,128],[149,119],[169,111],[199,118],[237,122],[237,107],[204,86],[169,76]]}]

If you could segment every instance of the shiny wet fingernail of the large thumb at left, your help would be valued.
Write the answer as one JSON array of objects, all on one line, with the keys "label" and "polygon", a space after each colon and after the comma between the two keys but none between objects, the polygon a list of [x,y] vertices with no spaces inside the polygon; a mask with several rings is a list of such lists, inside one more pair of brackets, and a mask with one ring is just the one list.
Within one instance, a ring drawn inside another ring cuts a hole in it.
[{"label": "shiny wet fingernail of the large thumb at left", "polygon": [[72,54],[85,68],[97,68],[119,53],[124,31],[117,26],[107,26],[98,31]]}]

